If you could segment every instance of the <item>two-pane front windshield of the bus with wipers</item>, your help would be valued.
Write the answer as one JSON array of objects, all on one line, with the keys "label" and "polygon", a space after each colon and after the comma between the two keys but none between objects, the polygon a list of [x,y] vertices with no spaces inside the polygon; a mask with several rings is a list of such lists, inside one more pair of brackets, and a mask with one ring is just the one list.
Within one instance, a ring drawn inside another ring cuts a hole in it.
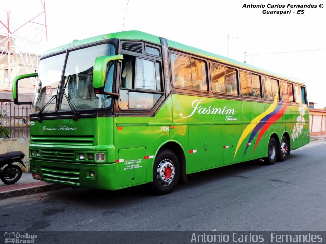
[{"label": "two-pane front windshield of the bus with wipers", "polygon": [[[93,66],[96,57],[114,55],[112,44],[101,44],[74,51],[68,51],[64,79],[61,81],[65,53],[42,59],[32,113],[55,112],[59,99],[58,111],[106,108],[111,105],[111,96],[97,95],[93,90]],[[113,63],[112,63],[113,64]],[[112,92],[113,68],[109,63],[105,91]],[[62,83],[61,83],[62,82]],[[58,87],[62,87],[58,92]],[[46,105],[53,96],[50,104]]]}]

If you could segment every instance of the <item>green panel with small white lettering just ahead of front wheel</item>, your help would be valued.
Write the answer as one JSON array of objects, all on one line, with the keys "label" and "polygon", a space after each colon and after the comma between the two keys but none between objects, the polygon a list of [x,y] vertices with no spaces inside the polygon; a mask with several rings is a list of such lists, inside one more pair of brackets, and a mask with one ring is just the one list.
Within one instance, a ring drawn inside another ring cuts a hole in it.
[{"label": "green panel with small white lettering just ahead of front wheel", "polygon": [[118,186],[137,185],[146,181],[145,147],[119,149]]}]

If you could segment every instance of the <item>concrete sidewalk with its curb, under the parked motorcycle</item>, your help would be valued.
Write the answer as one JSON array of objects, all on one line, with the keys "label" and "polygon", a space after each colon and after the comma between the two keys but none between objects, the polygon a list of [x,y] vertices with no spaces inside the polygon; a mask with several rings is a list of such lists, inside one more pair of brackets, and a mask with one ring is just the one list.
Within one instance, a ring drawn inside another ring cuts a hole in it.
[{"label": "concrete sidewalk with its curb, under the parked motorcycle", "polygon": [[36,180],[32,178],[31,173],[22,173],[21,178],[15,184],[6,185],[0,181],[0,199],[57,190],[64,187],[67,186]]}]

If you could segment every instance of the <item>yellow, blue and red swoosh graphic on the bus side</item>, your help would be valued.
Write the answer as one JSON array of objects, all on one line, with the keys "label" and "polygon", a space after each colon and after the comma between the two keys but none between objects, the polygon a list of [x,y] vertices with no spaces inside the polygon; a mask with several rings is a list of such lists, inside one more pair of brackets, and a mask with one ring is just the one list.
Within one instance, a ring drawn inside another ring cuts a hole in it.
[{"label": "yellow, blue and red swoosh graphic on the bus side", "polygon": [[[235,158],[240,145],[244,141],[244,139],[250,134],[249,140],[247,142],[246,150],[244,150],[244,154],[246,154],[247,149],[251,143],[251,141],[254,139],[256,134],[260,131],[258,135],[258,139],[254,148],[254,151],[256,150],[256,147],[263,136],[263,134],[267,131],[267,129],[273,125],[278,119],[280,119],[283,114],[286,111],[287,105],[285,105],[282,109],[283,104],[277,105],[278,101],[278,94],[274,97],[273,103],[269,106],[269,108],[264,111],[263,113],[259,114],[257,117],[255,117],[250,124],[243,130],[242,135],[240,137],[240,140],[238,141],[237,147],[235,149],[234,157]],[[267,114],[267,115],[265,115]]]}]

